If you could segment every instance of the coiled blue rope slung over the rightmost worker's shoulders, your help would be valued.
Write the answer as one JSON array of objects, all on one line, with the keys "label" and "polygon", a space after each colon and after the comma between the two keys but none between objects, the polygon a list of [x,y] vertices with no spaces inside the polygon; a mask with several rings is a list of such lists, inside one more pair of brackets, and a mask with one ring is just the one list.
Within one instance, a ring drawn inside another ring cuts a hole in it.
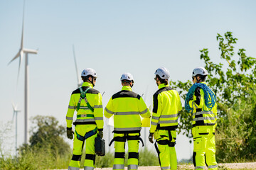
[{"label": "coiled blue rope slung over the rightmost worker's shoulders", "polygon": [[[201,83],[193,84],[193,86],[191,86],[191,89],[189,89],[188,94],[186,95],[186,99],[185,99],[186,111],[188,111],[188,113],[193,113],[193,108],[191,108],[191,106],[189,106],[189,101],[193,98],[193,94],[197,87],[200,87],[201,89],[203,89],[205,104],[206,104],[207,108],[210,109],[209,111],[211,111],[213,106],[215,106],[216,96],[213,93],[213,91],[211,89],[209,89],[209,87],[206,84],[201,84]],[[203,111],[205,111],[205,110],[203,109]]]}]

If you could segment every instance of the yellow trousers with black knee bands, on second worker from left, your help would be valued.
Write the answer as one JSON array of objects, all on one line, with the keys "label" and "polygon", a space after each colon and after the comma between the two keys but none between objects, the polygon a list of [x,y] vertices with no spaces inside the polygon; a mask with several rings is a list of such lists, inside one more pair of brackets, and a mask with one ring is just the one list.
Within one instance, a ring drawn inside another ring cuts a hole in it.
[{"label": "yellow trousers with black knee bands, on second worker from left", "polygon": [[[138,136],[139,133],[128,133],[128,136]],[[125,135],[123,133],[114,133],[114,137],[122,139]],[[121,137],[121,138],[120,138]],[[127,137],[128,142],[128,170],[135,170],[138,169],[139,163],[139,140],[129,140]],[[117,140],[114,141],[114,164],[113,169],[124,169],[124,157],[125,157],[125,140],[119,142]]]}]

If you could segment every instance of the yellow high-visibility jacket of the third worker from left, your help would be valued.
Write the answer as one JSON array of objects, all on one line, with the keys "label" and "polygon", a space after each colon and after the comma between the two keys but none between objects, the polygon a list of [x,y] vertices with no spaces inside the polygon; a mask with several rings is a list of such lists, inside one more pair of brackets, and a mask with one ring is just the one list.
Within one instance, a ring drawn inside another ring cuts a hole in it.
[{"label": "yellow high-visibility jacket of the third worker from left", "polygon": [[149,132],[175,130],[178,127],[178,112],[181,111],[181,98],[168,84],[159,84],[153,96],[153,115]]}]

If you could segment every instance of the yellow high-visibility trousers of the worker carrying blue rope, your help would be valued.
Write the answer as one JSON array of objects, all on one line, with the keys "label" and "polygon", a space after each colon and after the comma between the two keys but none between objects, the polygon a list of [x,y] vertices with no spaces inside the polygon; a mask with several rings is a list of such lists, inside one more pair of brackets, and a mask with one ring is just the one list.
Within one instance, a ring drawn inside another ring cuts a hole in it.
[{"label": "yellow high-visibility trousers of the worker carrying blue rope", "polygon": [[195,169],[217,169],[215,159],[215,126],[205,125],[192,128],[193,164]]}]

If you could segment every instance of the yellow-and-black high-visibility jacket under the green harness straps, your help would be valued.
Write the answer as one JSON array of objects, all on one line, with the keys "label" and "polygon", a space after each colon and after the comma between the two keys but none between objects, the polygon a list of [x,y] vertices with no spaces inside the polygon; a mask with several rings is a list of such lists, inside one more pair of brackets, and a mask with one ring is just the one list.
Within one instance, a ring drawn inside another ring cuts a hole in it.
[{"label": "yellow-and-black high-visibility jacket under the green harness straps", "polygon": [[91,88],[86,93],[86,98],[90,106],[94,108],[92,112],[90,108],[87,107],[85,100],[82,99],[80,103],[80,109],[78,111],[78,101],[80,100],[80,89],[73,91],[70,97],[70,102],[68,105],[68,113],[66,115],[67,128],[72,127],[73,115],[75,110],[77,113],[77,119],[74,125],[87,125],[96,124],[98,130],[103,130],[103,108],[102,108],[102,96],[99,91],[92,89],[92,84],[84,82],[82,84],[82,90],[85,91],[87,88]]}]

